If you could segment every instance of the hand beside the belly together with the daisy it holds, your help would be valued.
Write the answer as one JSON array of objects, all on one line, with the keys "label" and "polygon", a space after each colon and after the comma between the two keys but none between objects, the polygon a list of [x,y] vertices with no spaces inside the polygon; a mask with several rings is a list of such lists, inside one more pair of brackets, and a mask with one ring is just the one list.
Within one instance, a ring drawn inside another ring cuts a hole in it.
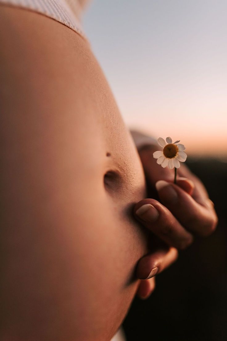
[{"label": "hand beside the belly together with the daisy it holds", "polygon": [[[166,249],[166,253],[162,253],[162,257],[157,258],[155,253],[151,253],[141,258],[137,266],[137,276],[141,279],[160,273],[166,268],[166,264],[168,266],[176,260],[176,249],[189,246],[194,234],[208,236],[217,225],[214,205],[202,182],[187,166],[178,167],[179,161],[183,162],[187,158],[183,151],[184,146],[178,146],[179,141],[176,141],[174,144],[178,150],[175,151],[174,157],[168,158],[164,154],[164,148],[168,145],[164,139],[159,139],[159,142],[162,143],[163,151],[157,151],[157,145],[146,146],[139,150],[147,178],[148,198],[135,205],[134,215],[153,234],[163,240],[169,249]],[[167,138],[166,142],[172,144],[170,138]],[[157,162],[153,156],[158,157]],[[179,168],[180,175],[175,184],[171,171],[174,167]],[[169,257],[171,253],[172,258]],[[166,262],[166,258],[170,260],[169,263]],[[138,294],[146,292],[147,296],[149,295],[154,287],[154,281],[151,280],[152,278],[141,282]],[[151,282],[145,283],[147,281]]]}]

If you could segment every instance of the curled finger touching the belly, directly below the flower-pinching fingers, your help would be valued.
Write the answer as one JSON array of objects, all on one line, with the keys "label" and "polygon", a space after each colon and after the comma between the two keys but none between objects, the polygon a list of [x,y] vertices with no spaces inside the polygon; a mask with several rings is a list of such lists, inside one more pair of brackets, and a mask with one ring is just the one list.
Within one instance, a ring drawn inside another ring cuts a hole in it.
[{"label": "curled finger touching the belly, directly below the flower-pinching fingers", "polygon": [[143,199],[134,207],[135,217],[165,243],[177,249],[185,249],[193,241],[173,214],[155,199]]}]

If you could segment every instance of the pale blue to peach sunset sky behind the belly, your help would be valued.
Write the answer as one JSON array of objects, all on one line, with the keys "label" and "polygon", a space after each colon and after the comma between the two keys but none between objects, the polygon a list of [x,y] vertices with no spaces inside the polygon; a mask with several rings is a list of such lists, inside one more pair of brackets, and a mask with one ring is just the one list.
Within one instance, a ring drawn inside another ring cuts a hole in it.
[{"label": "pale blue to peach sunset sky behind the belly", "polygon": [[126,124],[227,157],[227,1],[96,0],[83,26]]}]

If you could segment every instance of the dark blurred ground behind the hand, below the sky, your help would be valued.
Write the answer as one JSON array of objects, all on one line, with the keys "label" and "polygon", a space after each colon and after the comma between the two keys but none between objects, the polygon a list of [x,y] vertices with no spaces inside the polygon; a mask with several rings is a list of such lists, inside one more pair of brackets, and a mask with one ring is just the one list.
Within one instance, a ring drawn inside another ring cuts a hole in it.
[{"label": "dark blurred ground behind the hand, below the sky", "polygon": [[186,164],[205,184],[218,226],[179,253],[147,300],[134,299],[123,324],[127,341],[227,340],[227,162],[188,157]]}]

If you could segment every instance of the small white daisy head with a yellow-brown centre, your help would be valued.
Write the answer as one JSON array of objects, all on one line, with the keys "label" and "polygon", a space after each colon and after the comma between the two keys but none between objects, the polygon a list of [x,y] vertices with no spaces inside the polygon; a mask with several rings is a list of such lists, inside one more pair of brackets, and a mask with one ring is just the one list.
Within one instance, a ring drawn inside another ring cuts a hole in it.
[{"label": "small white daisy head with a yellow-brown centre", "polygon": [[[167,142],[167,143],[166,143]],[[163,148],[163,151],[155,151],[153,157],[157,160],[157,163],[163,168],[168,166],[170,169],[179,168],[180,162],[184,162],[187,159],[187,154],[184,152],[185,147],[179,141],[172,142],[171,137],[158,138],[158,144]]]}]

